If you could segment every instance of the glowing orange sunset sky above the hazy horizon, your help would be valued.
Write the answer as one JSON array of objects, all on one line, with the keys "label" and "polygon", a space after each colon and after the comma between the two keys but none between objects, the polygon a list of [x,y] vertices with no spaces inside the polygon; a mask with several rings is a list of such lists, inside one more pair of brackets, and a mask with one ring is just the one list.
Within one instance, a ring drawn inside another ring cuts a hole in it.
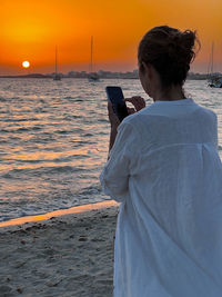
[{"label": "glowing orange sunset sky above the hazy horizon", "polygon": [[221,0],[0,0],[0,75],[89,70],[90,37],[94,69],[137,68],[137,47],[154,26],[196,29],[202,49],[193,71],[205,72],[214,41],[215,71],[222,71]]}]

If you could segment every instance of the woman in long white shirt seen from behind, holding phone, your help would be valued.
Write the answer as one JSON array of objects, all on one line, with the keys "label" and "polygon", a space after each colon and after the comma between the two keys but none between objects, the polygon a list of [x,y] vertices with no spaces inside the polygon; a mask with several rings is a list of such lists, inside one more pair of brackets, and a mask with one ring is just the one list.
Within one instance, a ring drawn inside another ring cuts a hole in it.
[{"label": "woman in long white shirt seen from behind, holding phone", "polygon": [[109,106],[112,149],[100,178],[121,202],[115,297],[222,296],[216,116],[182,88],[195,43],[190,30],[162,26],[147,32],[139,77],[154,102],[139,111],[143,101],[132,98],[139,112],[121,125]]}]

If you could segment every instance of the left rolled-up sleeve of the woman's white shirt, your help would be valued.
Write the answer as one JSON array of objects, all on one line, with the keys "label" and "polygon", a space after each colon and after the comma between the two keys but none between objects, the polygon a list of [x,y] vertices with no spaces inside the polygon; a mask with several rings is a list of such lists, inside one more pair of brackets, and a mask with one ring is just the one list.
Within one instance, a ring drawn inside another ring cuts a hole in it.
[{"label": "left rolled-up sleeve of the woman's white shirt", "polygon": [[100,175],[104,192],[119,202],[129,195],[130,167],[132,159],[135,158],[135,137],[133,126],[129,122],[119,126],[110,159]]}]

